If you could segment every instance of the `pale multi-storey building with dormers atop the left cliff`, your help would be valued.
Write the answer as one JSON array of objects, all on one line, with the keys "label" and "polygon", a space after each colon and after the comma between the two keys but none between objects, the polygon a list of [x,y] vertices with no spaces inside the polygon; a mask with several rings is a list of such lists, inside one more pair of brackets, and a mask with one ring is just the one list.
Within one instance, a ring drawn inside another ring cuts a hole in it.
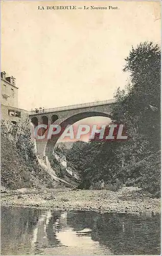
[{"label": "pale multi-storey building with dormers atop the left cliff", "polygon": [[18,108],[18,87],[13,76],[1,72],[1,119],[16,123],[28,118],[28,111]]}]

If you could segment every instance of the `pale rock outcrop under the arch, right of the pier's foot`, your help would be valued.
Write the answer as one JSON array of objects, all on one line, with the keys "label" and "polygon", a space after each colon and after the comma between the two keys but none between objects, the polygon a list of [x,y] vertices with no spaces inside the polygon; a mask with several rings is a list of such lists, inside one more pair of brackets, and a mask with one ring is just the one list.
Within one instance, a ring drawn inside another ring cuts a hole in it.
[{"label": "pale rock outcrop under the arch, right of the pier's foot", "polygon": [[58,177],[72,183],[80,182],[76,169],[66,161],[66,157],[63,154],[58,155],[56,152],[53,152],[52,167],[55,169]]}]

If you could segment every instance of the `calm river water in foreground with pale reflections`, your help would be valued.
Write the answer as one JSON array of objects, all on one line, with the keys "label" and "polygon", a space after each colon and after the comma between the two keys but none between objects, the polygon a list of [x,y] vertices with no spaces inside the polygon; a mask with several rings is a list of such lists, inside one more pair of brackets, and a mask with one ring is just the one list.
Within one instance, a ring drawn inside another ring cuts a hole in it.
[{"label": "calm river water in foreground with pale reflections", "polygon": [[159,254],[160,216],[2,207],[2,254]]}]

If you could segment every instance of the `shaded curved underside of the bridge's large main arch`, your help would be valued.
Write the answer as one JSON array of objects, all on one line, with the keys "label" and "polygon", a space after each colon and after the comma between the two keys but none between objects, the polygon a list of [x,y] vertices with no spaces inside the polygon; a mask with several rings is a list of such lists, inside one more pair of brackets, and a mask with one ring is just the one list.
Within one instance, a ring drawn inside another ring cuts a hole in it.
[{"label": "shaded curved underside of the bridge's large main arch", "polygon": [[[66,127],[67,125],[72,125],[82,119],[85,119],[87,117],[96,117],[96,116],[102,116],[102,117],[109,117],[112,118],[111,115],[107,114],[107,113],[102,113],[102,112],[82,112],[73,116],[70,116],[68,118],[65,118],[64,120],[61,120],[61,122],[56,122],[58,125],[60,125],[61,127]],[[59,121],[59,120],[58,120]],[[48,131],[47,131],[48,132]],[[58,134],[58,136],[52,136],[50,140],[47,141],[46,145],[45,145],[45,156],[48,156],[49,161],[52,160],[52,155],[53,155],[53,150],[54,150],[54,146],[57,142],[57,140],[60,138],[61,134],[63,133],[63,130],[60,134]]]}]

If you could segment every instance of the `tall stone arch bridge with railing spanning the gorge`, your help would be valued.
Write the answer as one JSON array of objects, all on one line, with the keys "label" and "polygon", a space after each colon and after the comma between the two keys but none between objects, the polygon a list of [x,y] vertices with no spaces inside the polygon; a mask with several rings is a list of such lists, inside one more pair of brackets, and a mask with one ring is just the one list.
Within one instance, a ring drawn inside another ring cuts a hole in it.
[{"label": "tall stone arch bridge with railing spanning the gorge", "polygon": [[[61,106],[53,109],[37,109],[29,113],[29,118],[34,126],[39,124],[59,124],[61,126],[66,124],[74,124],[75,122],[87,117],[103,116],[111,118],[112,104],[114,99],[97,101],[90,103],[83,103],[77,105]],[[45,131],[44,131],[45,132]],[[45,156],[51,161],[54,146],[59,139],[53,136],[49,140],[37,140],[37,153],[43,158]]]}]

